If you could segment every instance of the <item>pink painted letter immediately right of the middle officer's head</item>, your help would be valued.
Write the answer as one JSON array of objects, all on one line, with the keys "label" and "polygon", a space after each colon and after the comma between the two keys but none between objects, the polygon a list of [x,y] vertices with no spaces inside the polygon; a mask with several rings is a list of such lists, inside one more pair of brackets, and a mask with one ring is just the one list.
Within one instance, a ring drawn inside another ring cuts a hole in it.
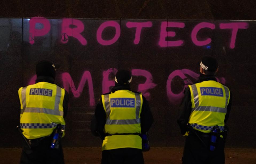
[{"label": "pink painted letter immediately right of the middle officer's head", "polygon": [[142,95],[147,99],[150,100],[151,96],[148,92],[149,89],[155,88],[157,84],[153,83],[153,77],[150,72],[142,69],[132,69],[133,76],[144,76],[146,77],[146,81],[144,84],[139,84],[138,92],[141,92]]}]

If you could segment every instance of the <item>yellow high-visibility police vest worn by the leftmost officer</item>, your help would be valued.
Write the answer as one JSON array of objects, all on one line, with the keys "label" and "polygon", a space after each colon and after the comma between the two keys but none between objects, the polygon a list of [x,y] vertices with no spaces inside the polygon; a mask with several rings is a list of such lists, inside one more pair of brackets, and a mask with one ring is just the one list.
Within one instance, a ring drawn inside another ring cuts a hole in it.
[{"label": "yellow high-visibility police vest worn by the leftmost officer", "polygon": [[18,93],[21,103],[20,126],[27,139],[49,136],[57,124],[65,127],[63,88],[39,82],[19,88]]}]

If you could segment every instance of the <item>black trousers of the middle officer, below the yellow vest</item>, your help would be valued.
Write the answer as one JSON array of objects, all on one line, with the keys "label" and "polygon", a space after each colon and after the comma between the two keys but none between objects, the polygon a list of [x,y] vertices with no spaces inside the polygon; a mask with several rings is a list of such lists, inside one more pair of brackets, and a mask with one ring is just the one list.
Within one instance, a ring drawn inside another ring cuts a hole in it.
[{"label": "black trousers of the middle officer, below the yellow vest", "polygon": [[121,148],[102,151],[102,164],[144,164],[141,149]]}]

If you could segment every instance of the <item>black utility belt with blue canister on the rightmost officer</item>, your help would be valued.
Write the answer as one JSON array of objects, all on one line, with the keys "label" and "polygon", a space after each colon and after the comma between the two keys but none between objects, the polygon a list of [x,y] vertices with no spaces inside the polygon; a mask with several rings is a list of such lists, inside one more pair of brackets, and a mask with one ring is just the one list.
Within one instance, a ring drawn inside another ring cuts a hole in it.
[{"label": "black utility belt with blue canister on the rightmost officer", "polygon": [[[204,141],[205,140],[209,140],[210,142],[210,151],[214,151],[215,147],[218,146],[218,140],[221,138],[223,139],[223,141],[226,141],[227,138],[227,133],[228,133],[228,127],[225,126],[224,130],[222,132],[220,132],[220,129],[218,128],[218,126],[214,126],[214,128],[211,130],[210,133],[203,133],[200,132],[198,130],[193,129],[193,127],[188,124],[188,130],[189,130],[189,135],[195,135],[198,137],[198,139],[202,142],[202,144],[208,149],[208,143],[205,144]],[[204,138],[204,141],[202,140],[202,138]],[[206,139],[208,138],[208,139]]]}]

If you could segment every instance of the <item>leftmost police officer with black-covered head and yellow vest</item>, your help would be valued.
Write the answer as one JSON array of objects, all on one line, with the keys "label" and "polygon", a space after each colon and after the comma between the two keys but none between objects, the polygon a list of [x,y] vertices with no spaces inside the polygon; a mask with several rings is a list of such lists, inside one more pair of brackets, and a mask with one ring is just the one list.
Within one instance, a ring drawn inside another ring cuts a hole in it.
[{"label": "leftmost police officer with black-covered head and yellow vest", "polygon": [[[68,93],[54,84],[55,66],[49,61],[36,65],[36,84],[19,88],[20,128],[25,137],[20,163],[64,164],[61,140],[58,149],[50,148],[56,127],[65,129]],[[64,133],[62,133],[62,137]]]}]

